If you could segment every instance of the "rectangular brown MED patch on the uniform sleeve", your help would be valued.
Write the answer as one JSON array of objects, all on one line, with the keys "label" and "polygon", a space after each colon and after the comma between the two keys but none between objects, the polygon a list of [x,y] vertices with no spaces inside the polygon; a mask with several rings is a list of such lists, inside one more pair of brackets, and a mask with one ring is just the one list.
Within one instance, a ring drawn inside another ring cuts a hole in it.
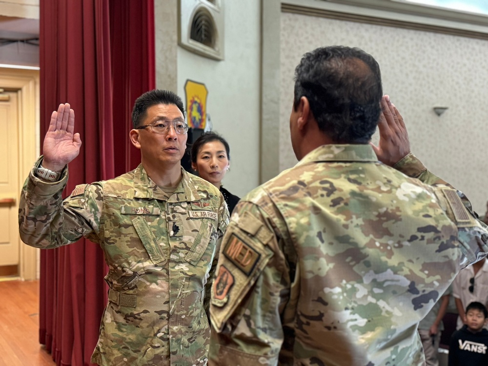
[{"label": "rectangular brown MED patch on the uniform sleeve", "polygon": [[232,233],[224,245],[224,255],[237,268],[249,276],[261,254],[240,237]]}]

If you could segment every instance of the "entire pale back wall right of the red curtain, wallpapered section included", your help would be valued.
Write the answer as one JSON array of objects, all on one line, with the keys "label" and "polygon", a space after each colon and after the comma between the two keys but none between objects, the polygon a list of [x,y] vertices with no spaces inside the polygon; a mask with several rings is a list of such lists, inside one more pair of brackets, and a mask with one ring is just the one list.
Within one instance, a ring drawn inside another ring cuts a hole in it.
[{"label": "entire pale back wall right of the red curtain, wallpapered section included", "polygon": [[[344,44],[363,48],[379,62],[384,92],[407,121],[413,152],[463,190],[477,211],[485,211],[488,41],[482,33],[488,33],[488,21],[474,24],[452,13],[419,15],[317,0],[224,0],[225,59],[214,61],[175,46],[178,1],[168,1],[171,6],[160,9],[167,26],[156,34],[160,59],[165,53],[165,61],[157,61],[158,87],[165,84],[184,97],[186,79],[205,83],[214,130],[231,146],[232,169],[224,180],[231,192],[242,196],[296,163],[288,132],[294,68],[315,47]],[[350,14],[359,21],[282,11],[295,5]],[[364,16],[379,21],[362,22]],[[380,18],[410,22],[417,29],[382,25]],[[481,38],[448,34],[449,29],[477,32]],[[437,105],[448,107],[441,117],[432,110]]]}]

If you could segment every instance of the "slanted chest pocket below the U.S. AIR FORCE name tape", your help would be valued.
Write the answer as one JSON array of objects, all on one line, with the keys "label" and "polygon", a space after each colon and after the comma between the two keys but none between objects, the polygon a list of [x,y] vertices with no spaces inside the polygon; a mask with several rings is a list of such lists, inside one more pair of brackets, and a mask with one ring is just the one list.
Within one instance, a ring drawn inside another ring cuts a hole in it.
[{"label": "slanted chest pocket below the U.S. AIR FORCE name tape", "polygon": [[184,259],[188,263],[197,265],[212,237],[212,232],[215,227],[213,220],[189,218],[185,221],[183,227],[185,232],[184,235],[189,235],[189,239],[193,241],[193,244]]}]

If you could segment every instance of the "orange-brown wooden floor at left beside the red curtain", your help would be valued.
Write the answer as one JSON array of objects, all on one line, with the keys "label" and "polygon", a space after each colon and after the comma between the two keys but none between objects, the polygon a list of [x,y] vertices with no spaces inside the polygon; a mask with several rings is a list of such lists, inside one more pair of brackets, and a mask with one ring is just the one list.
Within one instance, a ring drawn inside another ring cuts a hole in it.
[{"label": "orange-brown wooden floor at left beside the red curtain", "polygon": [[39,344],[39,281],[0,281],[0,366],[55,366]]}]

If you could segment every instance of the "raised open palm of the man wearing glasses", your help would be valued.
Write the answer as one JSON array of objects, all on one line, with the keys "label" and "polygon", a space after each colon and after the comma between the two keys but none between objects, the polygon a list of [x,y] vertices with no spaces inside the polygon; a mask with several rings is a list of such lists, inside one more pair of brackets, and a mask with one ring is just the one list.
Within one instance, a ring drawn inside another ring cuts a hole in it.
[{"label": "raised open palm of the man wearing glasses", "polygon": [[44,168],[60,172],[64,166],[80,153],[80,134],[74,132],[75,112],[69,103],[60,104],[58,111],[53,111],[47,130],[42,153]]}]

